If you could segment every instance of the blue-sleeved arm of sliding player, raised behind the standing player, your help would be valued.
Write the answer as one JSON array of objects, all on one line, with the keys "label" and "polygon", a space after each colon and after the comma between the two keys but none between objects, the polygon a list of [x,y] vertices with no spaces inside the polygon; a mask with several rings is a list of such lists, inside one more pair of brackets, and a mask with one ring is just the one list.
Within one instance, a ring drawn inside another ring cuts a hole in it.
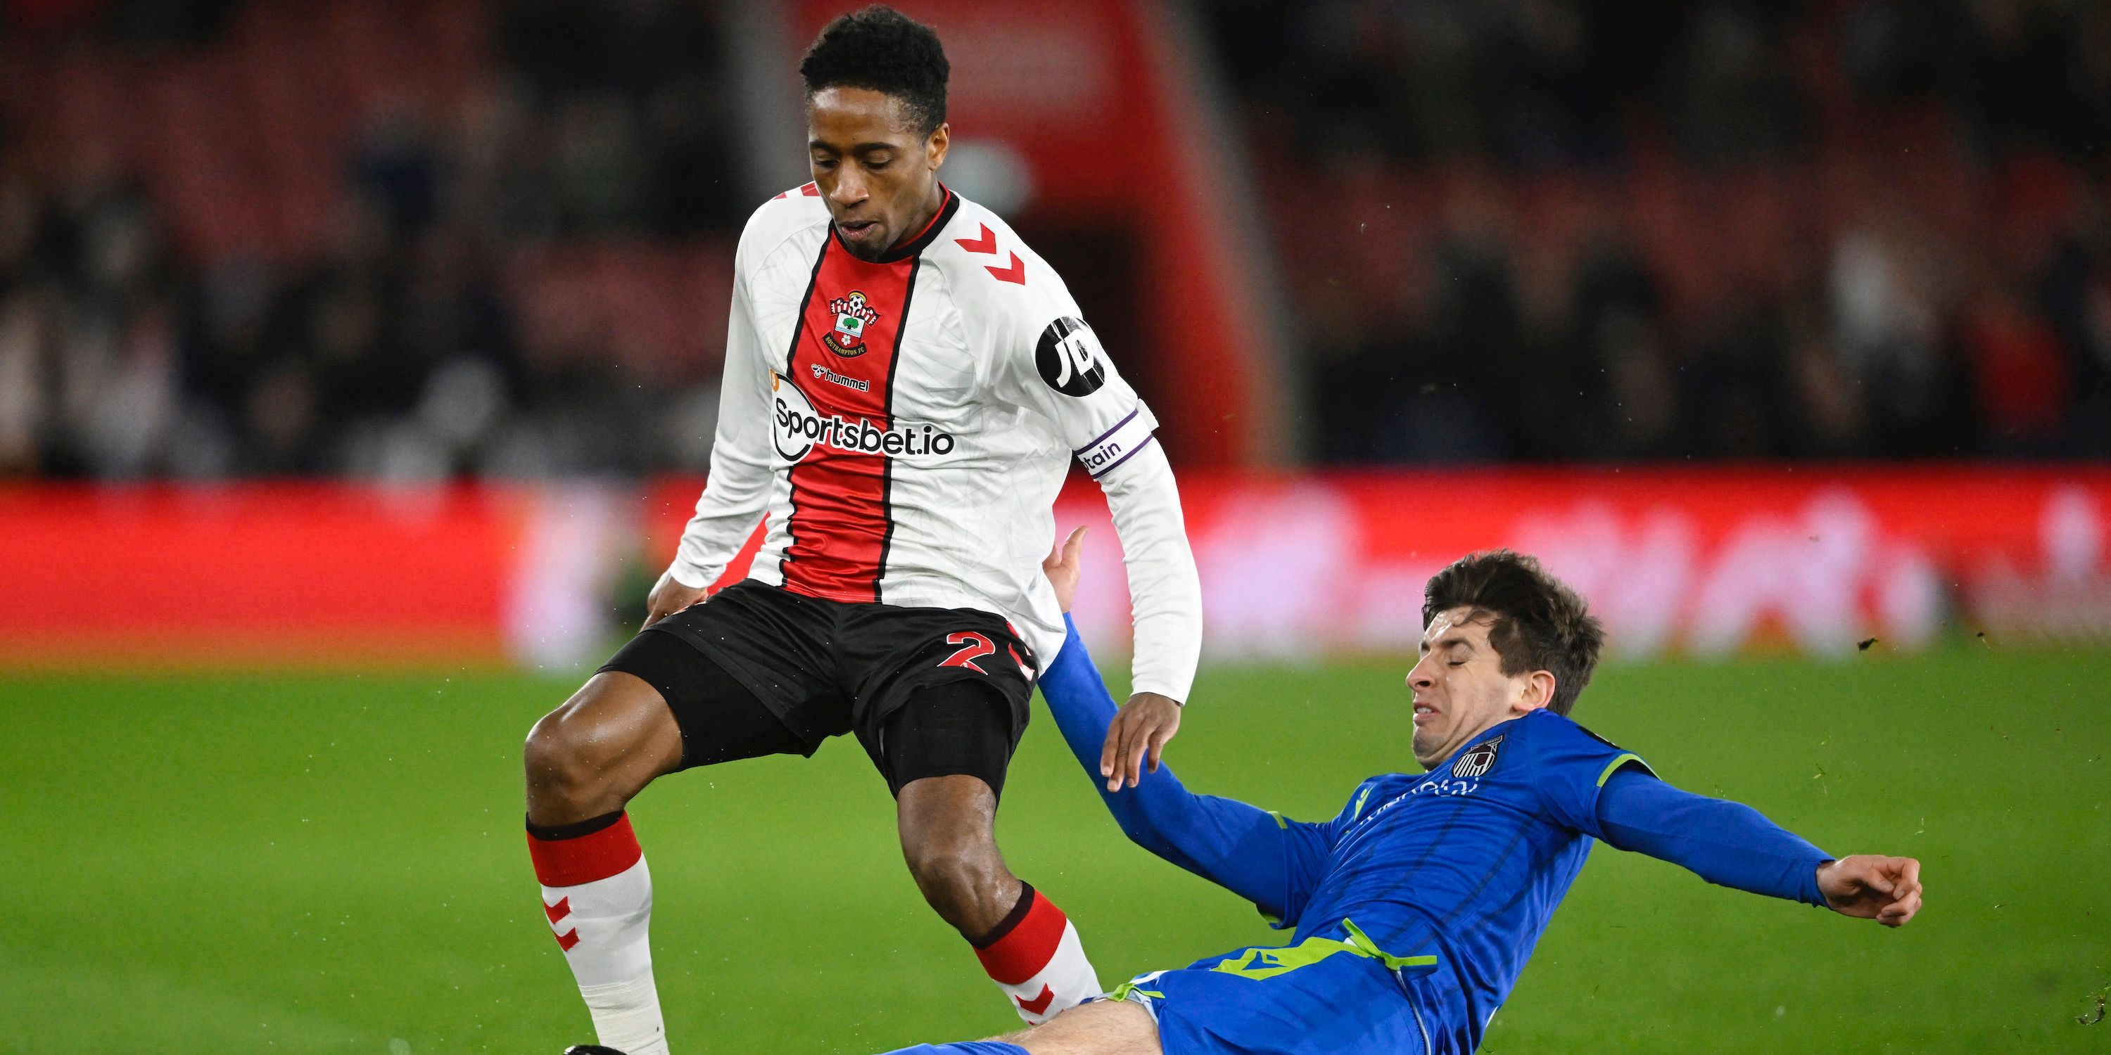
[{"label": "blue-sleeved arm of sliding player, raised behind the standing player", "polygon": [[[1062,559],[1070,561],[1068,582],[1058,580],[1058,595],[1066,608],[1070,597],[1066,587],[1077,582],[1077,540],[1079,534],[1072,534],[1070,544],[1049,557],[1049,578],[1064,574]],[[1115,722],[1115,698],[1106,692],[1106,682],[1100,679],[1100,669],[1093,667],[1068,614],[1064,625],[1068,637],[1041,673],[1041,696],[1049,701],[1056,728],[1062,730],[1079,766],[1093,779],[1121,831],[1138,846],[1260,905],[1262,912],[1286,916],[1292,901],[1302,901],[1300,890],[1311,886],[1317,863],[1326,857],[1324,827],[1286,821],[1237,800],[1197,795],[1167,766],[1144,772],[1134,787],[1108,791],[1100,762],[1106,730]]]}]

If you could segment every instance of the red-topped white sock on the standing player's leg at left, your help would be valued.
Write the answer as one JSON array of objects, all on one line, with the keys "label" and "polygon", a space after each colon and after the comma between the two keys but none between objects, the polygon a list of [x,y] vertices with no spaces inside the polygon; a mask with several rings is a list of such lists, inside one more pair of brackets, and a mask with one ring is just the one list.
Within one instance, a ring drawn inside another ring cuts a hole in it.
[{"label": "red-topped white sock on the standing player's leg at left", "polygon": [[652,987],[652,874],[623,812],[564,827],[528,825],[543,914],[587,998],[593,1032],[625,1055],[667,1055]]}]

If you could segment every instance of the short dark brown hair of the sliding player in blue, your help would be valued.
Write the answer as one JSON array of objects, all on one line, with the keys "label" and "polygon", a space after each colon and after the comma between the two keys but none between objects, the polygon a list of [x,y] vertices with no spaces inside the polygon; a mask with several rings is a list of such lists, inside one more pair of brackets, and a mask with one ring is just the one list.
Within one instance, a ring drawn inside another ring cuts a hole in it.
[{"label": "short dark brown hair of the sliding player in blue", "polygon": [[1598,667],[1604,627],[1583,597],[1539,568],[1537,559],[1507,549],[1459,557],[1429,578],[1423,627],[1452,608],[1471,608],[1478,618],[1490,620],[1488,646],[1503,660],[1505,675],[1554,675],[1549,711],[1566,715],[1577,705]]}]

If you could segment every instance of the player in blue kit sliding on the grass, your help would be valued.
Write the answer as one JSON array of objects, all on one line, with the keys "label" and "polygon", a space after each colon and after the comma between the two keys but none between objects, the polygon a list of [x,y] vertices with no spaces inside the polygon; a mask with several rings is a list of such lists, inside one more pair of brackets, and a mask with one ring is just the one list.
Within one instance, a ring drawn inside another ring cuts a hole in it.
[{"label": "player in blue kit sliding on the grass", "polygon": [[[1079,536],[1049,557],[1068,608]],[[1533,557],[1476,553],[1429,580],[1408,673],[1414,760],[1326,823],[1117,768],[1115,715],[1070,627],[1049,711],[1140,846],[1260,907],[1290,941],[1155,971],[1001,1040],[897,1055],[1469,1053],[1509,996],[1592,840],[1735,886],[1902,926],[1919,861],[1832,857],[1750,806],[1680,791],[1568,709],[1598,663],[1583,599]]]}]

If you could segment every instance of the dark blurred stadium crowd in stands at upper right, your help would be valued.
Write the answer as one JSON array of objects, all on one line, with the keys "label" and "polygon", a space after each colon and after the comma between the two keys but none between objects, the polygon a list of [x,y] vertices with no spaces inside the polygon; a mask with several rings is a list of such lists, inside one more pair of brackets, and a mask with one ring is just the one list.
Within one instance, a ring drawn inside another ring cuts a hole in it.
[{"label": "dark blurred stadium crowd in stands at upper right", "polygon": [[1203,8],[1324,460],[2111,454],[2107,4]]}]

